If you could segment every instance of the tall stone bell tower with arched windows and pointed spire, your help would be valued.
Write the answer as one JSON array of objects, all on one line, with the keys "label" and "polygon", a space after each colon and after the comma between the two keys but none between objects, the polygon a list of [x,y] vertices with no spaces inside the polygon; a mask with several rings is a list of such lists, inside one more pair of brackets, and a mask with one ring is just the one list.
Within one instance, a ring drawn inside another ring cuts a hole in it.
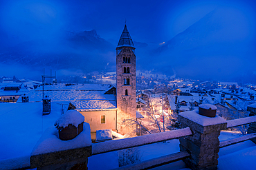
[{"label": "tall stone bell tower with arched windows and pointed spire", "polygon": [[135,47],[125,25],[116,47],[116,100],[118,133],[131,133],[124,120],[136,119],[136,56]]}]

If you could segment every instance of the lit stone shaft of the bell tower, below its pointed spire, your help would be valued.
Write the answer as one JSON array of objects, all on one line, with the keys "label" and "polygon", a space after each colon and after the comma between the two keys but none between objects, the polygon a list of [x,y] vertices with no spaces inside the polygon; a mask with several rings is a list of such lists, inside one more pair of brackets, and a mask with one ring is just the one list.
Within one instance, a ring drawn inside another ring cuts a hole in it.
[{"label": "lit stone shaft of the bell tower, below its pointed spire", "polygon": [[[132,129],[123,120],[136,118],[136,56],[133,47],[117,48],[116,53],[116,100],[118,107],[118,133],[126,134]],[[118,50],[122,50],[118,54]],[[130,57],[130,63],[123,63],[123,57]],[[123,73],[123,67],[129,67],[130,73]],[[124,78],[130,79],[130,85],[124,85]],[[125,96],[125,89],[128,96]]]}]

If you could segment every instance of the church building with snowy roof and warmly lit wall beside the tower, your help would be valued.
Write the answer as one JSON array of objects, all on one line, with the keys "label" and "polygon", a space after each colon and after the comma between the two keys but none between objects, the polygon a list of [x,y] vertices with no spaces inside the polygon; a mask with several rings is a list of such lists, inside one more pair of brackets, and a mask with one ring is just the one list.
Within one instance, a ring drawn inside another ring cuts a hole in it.
[{"label": "church building with snowy roof and warmly lit wall beside the tower", "polygon": [[[27,93],[31,103],[42,102],[43,87],[37,87]],[[68,108],[68,103],[84,116],[84,121],[90,124],[91,138],[100,129],[117,131],[116,87],[104,84],[64,84],[44,85],[44,96],[49,96],[52,103]],[[21,103],[21,98],[17,101]],[[51,114],[51,113],[50,113]]]}]

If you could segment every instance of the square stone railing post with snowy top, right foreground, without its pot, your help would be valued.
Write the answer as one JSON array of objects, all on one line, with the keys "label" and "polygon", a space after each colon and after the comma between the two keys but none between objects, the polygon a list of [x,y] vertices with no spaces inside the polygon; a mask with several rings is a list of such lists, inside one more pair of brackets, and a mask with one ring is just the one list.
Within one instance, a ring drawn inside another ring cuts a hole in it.
[{"label": "square stone railing post with snowy top, right foreground, without its pot", "polygon": [[219,158],[219,135],[226,129],[226,120],[219,116],[209,118],[198,111],[179,114],[181,127],[190,127],[192,136],[180,138],[181,151],[188,151],[190,158],[183,160],[191,169],[217,169]]}]

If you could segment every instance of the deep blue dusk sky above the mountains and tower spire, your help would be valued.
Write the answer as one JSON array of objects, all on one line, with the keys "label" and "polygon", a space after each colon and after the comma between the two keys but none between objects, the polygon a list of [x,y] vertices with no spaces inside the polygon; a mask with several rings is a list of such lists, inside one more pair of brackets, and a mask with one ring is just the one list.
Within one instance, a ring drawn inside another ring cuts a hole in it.
[{"label": "deep blue dusk sky above the mountains and tower spire", "polygon": [[[12,45],[44,39],[57,45],[63,31],[94,29],[103,39],[117,45],[127,21],[127,28],[134,41],[155,44],[157,48],[214,10],[223,19],[224,24],[221,23],[219,27],[226,28],[218,34],[221,42],[255,43],[256,3],[246,0],[1,1],[0,31],[5,35],[1,43]],[[143,55],[140,49],[137,48],[137,51],[140,56]],[[141,62],[140,56],[138,62]],[[149,56],[149,59],[154,60],[154,55]]]}]

